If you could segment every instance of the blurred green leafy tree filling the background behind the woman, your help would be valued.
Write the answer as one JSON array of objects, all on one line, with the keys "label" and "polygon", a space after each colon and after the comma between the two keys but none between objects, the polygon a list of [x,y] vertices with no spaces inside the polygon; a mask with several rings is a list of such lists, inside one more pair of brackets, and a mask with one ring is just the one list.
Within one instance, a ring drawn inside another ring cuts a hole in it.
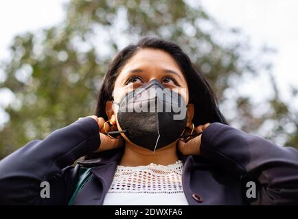
[{"label": "blurred green leafy tree filling the background behind the woman", "polygon": [[73,0],[66,10],[62,23],[21,34],[12,42],[10,62],[2,65],[6,79],[0,89],[10,89],[14,101],[5,107],[10,120],[0,132],[0,158],[93,114],[108,62],[126,44],[147,35],[183,47],[203,70],[231,125],[252,133],[265,127],[262,136],[268,140],[298,145],[297,112],[279,98],[273,77],[271,99],[253,103],[250,96],[238,93],[245,75],[257,77],[266,68],[270,73],[271,66],[262,62],[268,49],[257,58],[247,57],[251,48],[241,31],[222,29],[200,5]]}]

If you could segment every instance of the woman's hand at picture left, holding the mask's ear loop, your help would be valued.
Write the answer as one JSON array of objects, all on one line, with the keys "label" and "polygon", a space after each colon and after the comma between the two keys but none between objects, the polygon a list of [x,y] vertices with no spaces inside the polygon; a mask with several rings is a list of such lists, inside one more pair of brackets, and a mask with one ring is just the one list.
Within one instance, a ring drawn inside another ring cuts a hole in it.
[{"label": "woman's hand at picture left, holding the mask's ear loop", "polygon": [[[106,122],[104,118],[94,115],[87,117],[93,118],[96,121],[96,123],[98,123],[98,127],[100,128],[100,145],[98,146],[97,150],[93,151],[93,153],[98,153],[100,151],[111,150],[120,146],[124,146],[124,139],[122,138],[122,136],[119,136],[118,138],[110,138],[104,134],[104,123]],[[106,123],[105,126],[106,131],[110,131],[110,125]]]}]

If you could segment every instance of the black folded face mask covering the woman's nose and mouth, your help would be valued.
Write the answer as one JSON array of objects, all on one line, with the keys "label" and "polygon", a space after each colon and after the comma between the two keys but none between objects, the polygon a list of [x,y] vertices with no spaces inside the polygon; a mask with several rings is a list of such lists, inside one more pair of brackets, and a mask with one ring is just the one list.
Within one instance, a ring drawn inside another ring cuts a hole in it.
[{"label": "black folded face mask covering the woman's nose and mouth", "polygon": [[116,104],[122,131],[113,133],[122,132],[130,142],[151,151],[176,141],[185,129],[185,100],[156,79],[128,92]]}]

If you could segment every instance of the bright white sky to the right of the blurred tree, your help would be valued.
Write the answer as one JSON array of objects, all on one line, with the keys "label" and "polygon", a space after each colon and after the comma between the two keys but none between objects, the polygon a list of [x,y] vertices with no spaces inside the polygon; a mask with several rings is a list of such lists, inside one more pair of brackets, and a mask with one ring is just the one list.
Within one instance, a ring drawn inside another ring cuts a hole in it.
[{"label": "bright white sky to the right of the blurred tree", "polygon": [[[282,98],[291,103],[288,85],[298,88],[298,1],[296,0],[200,0],[203,8],[226,27],[239,27],[251,44],[260,48],[266,44],[277,50],[271,57],[273,75]],[[249,83],[245,92],[260,90],[264,80]],[[265,86],[266,87],[266,86]],[[294,104],[294,103],[292,103]],[[295,103],[298,109],[298,104]]]}]

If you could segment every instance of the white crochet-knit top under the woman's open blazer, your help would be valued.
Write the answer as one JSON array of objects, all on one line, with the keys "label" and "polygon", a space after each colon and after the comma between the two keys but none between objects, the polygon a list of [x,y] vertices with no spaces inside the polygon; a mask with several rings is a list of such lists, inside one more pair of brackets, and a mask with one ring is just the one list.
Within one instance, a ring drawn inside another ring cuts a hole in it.
[{"label": "white crochet-knit top under the woman's open blazer", "polygon": [[188,205],[182,171],[181,160],[167,166],[117,165],[103,205]]}]

